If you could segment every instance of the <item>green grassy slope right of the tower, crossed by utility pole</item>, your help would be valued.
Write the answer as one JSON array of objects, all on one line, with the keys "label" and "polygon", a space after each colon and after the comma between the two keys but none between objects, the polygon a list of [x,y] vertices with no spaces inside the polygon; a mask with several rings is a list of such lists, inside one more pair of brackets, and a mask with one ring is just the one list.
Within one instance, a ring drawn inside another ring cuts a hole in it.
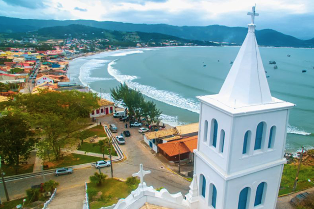
[{"label": "green grassy slope right of the tower, crossed by utility pole", "polygon": [[[288,194],[292,192],[297,169],[298,169],[298,165],[296,164],[284,165],[284,172],[281,178],[279,195],[284,195],[284,194]],[[301,165],[300,173],[299,173],[299,181],[296,187],[296,191],[303,190],[308,187],[312,187],[313,184],[308,182],[307,181],[308,179],[314,180],[314,167]]]}]

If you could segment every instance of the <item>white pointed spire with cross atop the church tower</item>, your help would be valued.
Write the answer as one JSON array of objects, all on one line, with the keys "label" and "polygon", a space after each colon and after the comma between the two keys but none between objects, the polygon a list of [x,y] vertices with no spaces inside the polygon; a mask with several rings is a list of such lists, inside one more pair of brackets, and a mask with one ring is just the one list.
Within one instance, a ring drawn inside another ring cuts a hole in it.
[{"label": "white pointed spire with cross atop the church tower", "polygon": [[248,33],[241,49],[221,87],[218,95],[220,102],[232,108],[272,103],[262,58],[255,37],[255,12],[248,24]]}]

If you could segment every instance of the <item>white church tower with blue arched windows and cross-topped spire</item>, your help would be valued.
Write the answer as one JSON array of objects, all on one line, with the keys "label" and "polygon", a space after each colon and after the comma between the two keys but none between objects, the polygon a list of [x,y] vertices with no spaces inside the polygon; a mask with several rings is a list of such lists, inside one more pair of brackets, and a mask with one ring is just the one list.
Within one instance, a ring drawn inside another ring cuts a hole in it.
[{"label": "white church tower with blue arched windows and cross-topped spire", "polygon": [[255,37],[255,7],[248,15],[248,33],[219,94],[198,97],[198,200],[192,209],[276,207],[295,105],[271,96]]}]

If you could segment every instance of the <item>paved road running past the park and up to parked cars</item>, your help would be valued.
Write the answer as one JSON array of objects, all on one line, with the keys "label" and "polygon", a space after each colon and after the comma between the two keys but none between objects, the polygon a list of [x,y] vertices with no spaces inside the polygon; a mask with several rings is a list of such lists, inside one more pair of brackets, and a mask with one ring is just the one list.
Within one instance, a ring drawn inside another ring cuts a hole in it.
[{"label": "paved road running past the park and up to parked cars", "polygon": [[[100,118],[99,121],[115,123],[118,127],[118,134],[121,134],[121,132],[125,130],[125,128],[122,128],[125,124],[118,119],[112,118],[112,116]],[[162,167],[163,164],[139,143],[139,141],[143,139],[143,136],[137,132],[138,128],[129,128],[128,130],[131,132],[132,136],[127,137],[126,144],[121,146],[127,156],[127,160],[113,164],[114,177],[126,179],[133,173],[137,173],[139,164],[143,163],[145,170],[151,170],[151,174],[146,175],[144,179],[147,185],[152,185],[154,188],[163,186],[171,193],[182,192],[182,194],[186,194],[190,182],[166,169],[161,169],[160,167]],[[102,168],[101,171],[106,173],[109,177],[111,176],[110,168]],[[95,172],[97,172],[95,167],[89,167],[74,170],[74,173],[70,175],[56,177],[53,174],[49,174],[46,175],[46,180],[53,179],[60,183],[57,191],[58,194],[59,190],[84,185],[85,182],[89,181],[89,176],[93,175]],[[9,196],[11,199],[24,197],[26,189],[29,189],[31,185],[36,185],[41,182],[43,182],[42,177],[7,182]],[[2,200],[5,200],[2,184],[0,184],[0,195]]]}]

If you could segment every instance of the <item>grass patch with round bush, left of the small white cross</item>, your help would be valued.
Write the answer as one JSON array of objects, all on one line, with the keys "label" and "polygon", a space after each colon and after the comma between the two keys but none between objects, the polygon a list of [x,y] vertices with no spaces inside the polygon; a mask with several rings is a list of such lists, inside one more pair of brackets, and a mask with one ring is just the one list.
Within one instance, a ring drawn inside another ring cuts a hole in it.
[{"label": "grass patch with round bush, left of the small white cross", "polygon": [[88,191],[96,190],[97,192],[102,192],[102,195],[97,200],[94,200],[95,198],[89,194],[90,209],[111,206],[117,203],[119,199],[126,198],[132,191],[125,182],[116,179],[106,179],[101,186],[88,183],[87,188]]}]

